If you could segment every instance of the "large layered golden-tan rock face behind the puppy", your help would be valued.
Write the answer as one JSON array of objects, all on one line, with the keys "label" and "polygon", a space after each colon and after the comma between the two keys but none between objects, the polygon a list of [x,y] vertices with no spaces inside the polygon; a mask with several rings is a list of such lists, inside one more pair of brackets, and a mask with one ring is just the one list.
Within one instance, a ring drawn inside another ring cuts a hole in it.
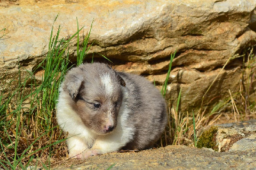
[{"label": "large layered golden-tan rock face behind the puppy", "polygon": [[[145,75],[159,85],[165,79],[170,54],[177,50],[167,97],[176,102],[182,88],[181,109],[200,106],[228,58],[256,42],[255,0],[16,3],[0,3],[0,26],[8,32],[0,40],[0,73],[8,72],[1,87],[17,74],[18,60],[22,68],[31,70],[44,58],[58,13],[54,30],[61,25],[61,37],[66,38],[76,33],[76,17],[80,27],[86,28],[84,35],[94,19],[88,61],[93,53],[95,58],[103,54],[116,70]],[[74,61],[76,40],[70,44],[70,54]],[[242,60],[230,61],[205,101],[225,97],[228,89],[237,91]]]}]

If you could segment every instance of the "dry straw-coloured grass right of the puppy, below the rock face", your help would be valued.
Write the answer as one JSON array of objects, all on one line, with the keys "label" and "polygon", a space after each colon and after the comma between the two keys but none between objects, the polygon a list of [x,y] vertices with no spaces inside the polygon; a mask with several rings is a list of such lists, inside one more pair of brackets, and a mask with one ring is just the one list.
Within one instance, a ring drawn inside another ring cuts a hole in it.
[{"label": "dry straw-coloured grass right of the puppy, below the rock face", "polygon": [[[254,48],[247,50],[247,52],[248,53],[245,53],[243,56],[230,57],[220,70],[221,73],[232,59],[237,57],[244,58],[240,91],[236,94],[232,94],[230,90],[228,90],[230,98],[220,100],[220,102],[213,107],[211,112],[205,112],[206,108],[203,110],[203,97],[201,108],[196,113],[195,118],[191,116],[193,111],[186,113],[178,112],[178,98],[177,106],[169,108],[168,126],[164,130],[164,134],[161,135],[161,146],[167,144],[196,146],[197,137],[199,137],[206,128],[214,124],[232,123],[256,118],[256,53]],[[218,75],[220,75],[220,73]],[[218,75],[214,81],[218,78]],[[209,86],[209,89],[211,86]],[[208,91],[209,90],[205,92],[204,96]],[[195,121],[195,125],[193,125],[193,121]]]}]

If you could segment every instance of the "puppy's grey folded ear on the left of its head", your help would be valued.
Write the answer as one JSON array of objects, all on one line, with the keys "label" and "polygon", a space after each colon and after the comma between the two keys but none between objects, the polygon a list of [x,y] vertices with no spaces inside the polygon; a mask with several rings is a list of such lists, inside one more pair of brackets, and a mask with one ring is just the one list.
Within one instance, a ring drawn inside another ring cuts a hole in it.
[{"label": "puppy's grey folded ear on the left of its head", "polygon": [[72,99],[74,100],[77,97],[79,90],[81,89],[83,81],[81,78],[77,77],[76,75],[70,75],[66,77],[66,79],[67,78],[69,78],[66,82],[68,93],[70,97],[72,97]]}]

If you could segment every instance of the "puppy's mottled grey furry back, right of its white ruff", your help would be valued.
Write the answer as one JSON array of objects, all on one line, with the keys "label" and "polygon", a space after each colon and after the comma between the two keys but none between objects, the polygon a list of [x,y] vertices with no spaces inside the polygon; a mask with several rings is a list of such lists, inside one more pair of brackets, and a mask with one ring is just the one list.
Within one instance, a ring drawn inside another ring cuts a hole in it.
[{"label": "puppy's mottled grey furry back, right of its white ruff", "polygon": [[134,140],[124,149],[145,149],[151,147],[159,139],[166,126],[166,102],[160,91],[144,77],[118,72],[129,90],[124,102],[131,110],[127,119],[134,126]]}]

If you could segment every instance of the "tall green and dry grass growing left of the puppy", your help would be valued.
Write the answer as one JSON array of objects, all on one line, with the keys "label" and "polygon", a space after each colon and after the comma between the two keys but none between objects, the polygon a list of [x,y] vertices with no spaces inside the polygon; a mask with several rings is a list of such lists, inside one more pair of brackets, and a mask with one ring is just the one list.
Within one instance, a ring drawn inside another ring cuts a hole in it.
[{"label": "tall green and dry grass growing left of the puppy", "polygon": [[[59,26],[53,36],[52,26],[49,52],[45,59],[34,71],[27,71],[23,81],[19,70],[17,89],[6,95],[7,98],[4,94],[0,96],[0,165],[5,169],[26,169],[31,164],[46,168],[51,158],[67,155],[65,136],[56,123],[55,105],[58,88],[70,65],[68,45],[81,29],[77,27],[77,33],[68,40],[60,39],[60,31]],[[83,59],[88,52],[88,38],[79,51]],[[42,72],[40,84],[34,76],[37,70]]]}]

